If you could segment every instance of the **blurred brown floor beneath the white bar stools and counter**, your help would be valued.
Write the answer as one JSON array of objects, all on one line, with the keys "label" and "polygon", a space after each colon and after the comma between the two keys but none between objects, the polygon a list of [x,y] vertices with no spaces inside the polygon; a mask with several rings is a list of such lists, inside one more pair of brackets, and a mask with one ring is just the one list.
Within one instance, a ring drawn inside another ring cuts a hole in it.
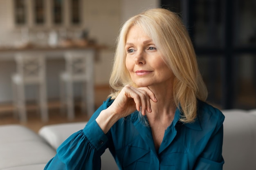
[{"label": "blurred brown floor beneath the white bar stools and counter", "polygon": [[[108,86],[100,86],[95,88],[95,108],[98,108],[102,104],[102,102],[106,100],[109,93],[110,88]],[[69,121],[66,115],[60,112],[59,102],[57,100],[49,101],[48,106],[49,121],[47,123],[43,123],[41,121],[38,109],[34,104],[28,104],[28,121],[26,123],[22,123],[16,117],[14,117],[12,104],[0,104],[0,125],[22,124],[34,130],[35,132],[38,132],[38,130],[45,125],[87,121],[90,118],[86,115],[86,113],[81,113],[81,107],[79,102],[76,102],[76,116],[75,119],[72,121]]]}]

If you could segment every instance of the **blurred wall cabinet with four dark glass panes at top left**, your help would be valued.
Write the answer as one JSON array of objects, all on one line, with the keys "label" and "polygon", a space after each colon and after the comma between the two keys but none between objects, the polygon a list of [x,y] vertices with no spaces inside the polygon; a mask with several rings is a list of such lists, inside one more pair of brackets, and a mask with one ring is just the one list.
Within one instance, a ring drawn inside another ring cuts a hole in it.
[{"label": "blurred wall cabinet with four dark glass panes at top left", "polygon": [[49,29],[82,24],[83,0],[12,0],[15,28]]}]

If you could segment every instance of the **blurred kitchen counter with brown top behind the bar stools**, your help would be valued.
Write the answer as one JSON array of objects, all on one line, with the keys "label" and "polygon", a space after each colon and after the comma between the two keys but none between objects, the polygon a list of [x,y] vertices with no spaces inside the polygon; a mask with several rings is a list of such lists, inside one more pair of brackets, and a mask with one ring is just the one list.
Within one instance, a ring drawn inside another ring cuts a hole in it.
[{"label": "blurred kitchen counter with brown top behind the bar stools", "polygon": [[[49,99],[59,97],[59,75],[65,69],[64,54],[71,51],[81,51],[87,55],[93,55],[94,60],[94,83],[108,84],[108,76],[111,70],[111,61],[113,52],[110,48],[103,45],[87,46],[56,46],[40,47],[27,46],[26,48],[1,48],[0,47],[0,103],[9,103],[12,101],[11,75],[16,72],[16,63],[14,56],[16,53],[44,53],[46,56],[46,76],[47,76],[47,93]],[[106,82],[106,83],[105,83]],[[74,89],[74,95],[79,96],[79,88]],[[27,92],[28,99],[35,99],[33,89]]]}]

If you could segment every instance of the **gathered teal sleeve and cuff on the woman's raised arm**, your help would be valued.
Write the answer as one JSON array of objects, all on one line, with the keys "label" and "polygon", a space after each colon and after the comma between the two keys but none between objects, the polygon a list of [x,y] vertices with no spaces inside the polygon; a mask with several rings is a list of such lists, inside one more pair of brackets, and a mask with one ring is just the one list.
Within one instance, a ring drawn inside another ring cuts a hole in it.
[{"label": "gathered teal sleeve and cuff on the woman's raised arm", "polygon": [[101,155],[107,148],[108,137],[95,119],[104,108],[106,104],[94,113],[83,130],[72,134],[57,148],[56,156],[47,163],[44,170],[101,169]]}]

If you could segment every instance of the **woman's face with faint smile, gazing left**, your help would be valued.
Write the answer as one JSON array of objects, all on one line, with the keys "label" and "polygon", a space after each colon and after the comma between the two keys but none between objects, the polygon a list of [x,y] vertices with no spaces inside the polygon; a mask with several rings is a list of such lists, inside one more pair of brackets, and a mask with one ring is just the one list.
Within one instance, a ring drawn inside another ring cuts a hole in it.
[{"label": "woman's face with faint smile, gazing left", "polygon": [[139,27],[132,26],[126,39],[126,68],[139,87],[173,82],[173,73],[164,63],[152,39]]}]

